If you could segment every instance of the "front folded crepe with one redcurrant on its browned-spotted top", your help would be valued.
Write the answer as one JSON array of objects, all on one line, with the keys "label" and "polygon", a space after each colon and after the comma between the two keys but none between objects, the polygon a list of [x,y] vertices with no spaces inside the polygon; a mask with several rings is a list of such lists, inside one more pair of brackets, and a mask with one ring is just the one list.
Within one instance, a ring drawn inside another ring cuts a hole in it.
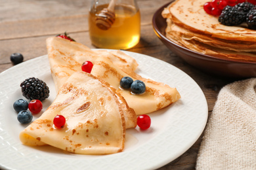
[{"label": "front folded crepe with one redcurrant on its browned-spotted top", "polygon": [[[20,133],[20,141],[30,146],[49,144],[75,154],[121,152],[125,119],[118,97],[104,80],[76,72],[51,106]],[[66,118],[62,129],[54,127],[57,114]]]}]

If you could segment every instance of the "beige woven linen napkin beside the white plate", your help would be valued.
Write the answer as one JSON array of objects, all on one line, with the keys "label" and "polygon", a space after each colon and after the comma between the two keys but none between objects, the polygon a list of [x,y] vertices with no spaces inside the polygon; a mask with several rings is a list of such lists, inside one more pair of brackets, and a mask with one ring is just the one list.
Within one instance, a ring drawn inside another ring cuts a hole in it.
[{"label": "beige woven linen napkin beside the white plate", "polygon": [[198,153],[196,169],[256,169],[256,78],[219,92]]}]

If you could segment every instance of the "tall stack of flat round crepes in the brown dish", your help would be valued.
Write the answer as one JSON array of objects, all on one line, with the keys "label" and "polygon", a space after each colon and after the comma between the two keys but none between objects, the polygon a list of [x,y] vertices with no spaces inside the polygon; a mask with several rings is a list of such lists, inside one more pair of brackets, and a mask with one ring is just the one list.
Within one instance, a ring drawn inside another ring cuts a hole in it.
[{"label": "tall stack of flat round crepes in the brown dish", "polygon": [[256,61],[256,31],[226,26],[203,10],[208,0],[176,0],[162,11],[166,37],[190,50],[239,61]]}]

